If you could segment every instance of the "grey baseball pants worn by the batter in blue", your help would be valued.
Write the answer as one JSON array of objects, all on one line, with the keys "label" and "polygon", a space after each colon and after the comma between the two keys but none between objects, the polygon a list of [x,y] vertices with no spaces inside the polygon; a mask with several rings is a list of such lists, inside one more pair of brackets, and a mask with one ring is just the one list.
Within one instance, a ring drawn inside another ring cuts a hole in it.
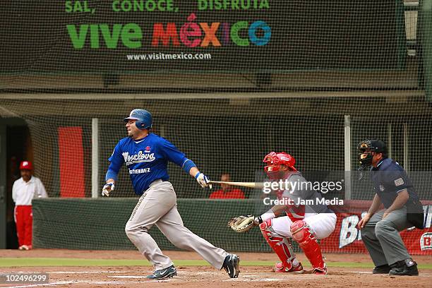
[{"label": "grey baseball pants worn by the batter in blue", "polygon": [[220,270],[228,253],[184,227],[177,211],[176,200],[176,193],[171,183],[161,180],[152,182],[150,188],[138,200],[126,223],[126,235],[140,253],[152,263],[155,270],[168,268],[173,263],[171,259],[164,256],[155,240],[148,234],[153,224],[174,246],[196,251],[214,268]]}]

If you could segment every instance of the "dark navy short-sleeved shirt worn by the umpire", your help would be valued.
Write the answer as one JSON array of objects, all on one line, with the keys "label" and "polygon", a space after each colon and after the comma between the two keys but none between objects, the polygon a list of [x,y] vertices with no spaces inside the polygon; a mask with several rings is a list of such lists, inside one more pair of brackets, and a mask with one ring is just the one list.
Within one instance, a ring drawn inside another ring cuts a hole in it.
[{"label": "dark navy short-sleeved shirt worn by the umpire", "polygon": [[397,197],[397,193],[407,189],[409,200],[419,200],[407,172],[395,160],[385,158],[377,167],[371,168],[373,189],[380,197],[385,208],[389,208]]}]

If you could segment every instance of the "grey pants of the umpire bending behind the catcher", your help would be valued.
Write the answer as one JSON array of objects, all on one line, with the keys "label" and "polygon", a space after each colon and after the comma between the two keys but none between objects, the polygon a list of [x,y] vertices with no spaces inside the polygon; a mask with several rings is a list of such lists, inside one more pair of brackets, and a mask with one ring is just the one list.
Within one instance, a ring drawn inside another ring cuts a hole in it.
[{"label": "grey pants of the umpire bending behind the catcher", "polygon": [[395,210],[383,220],[384,212],[376,212],[361,229],[361,239],[376,266],[411,258],[399,233],[413,226],[407,220],[407,208]]}]

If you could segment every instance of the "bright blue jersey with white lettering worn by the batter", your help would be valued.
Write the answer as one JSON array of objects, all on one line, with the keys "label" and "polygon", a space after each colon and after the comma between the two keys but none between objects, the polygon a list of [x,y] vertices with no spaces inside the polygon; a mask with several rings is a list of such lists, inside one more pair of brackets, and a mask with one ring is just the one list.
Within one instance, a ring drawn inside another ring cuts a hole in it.
[{"label": "bright blue jersey with white lettering worn by the batter", "polygon": [[169,140],[154,133],[143,139],[133,140],[126,137],[119,140],[108,160],[111,162],[108,169],[116,174],[119,173],[121,165],[126,164],[133,189],[138,195],[142,195],[153,181],[169,179],[168,161],[180,167],[190,161]]}]

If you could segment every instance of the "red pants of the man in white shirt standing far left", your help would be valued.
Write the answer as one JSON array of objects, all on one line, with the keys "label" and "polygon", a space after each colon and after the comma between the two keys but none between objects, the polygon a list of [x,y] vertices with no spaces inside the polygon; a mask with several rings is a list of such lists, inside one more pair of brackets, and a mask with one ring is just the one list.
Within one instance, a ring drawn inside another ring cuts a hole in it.
[{"label": "red pants of the man in white shirt standing far left", "polygon": [[31,205],[15,207],[16,234],[19,246],[32,246],[33,214]]}]

